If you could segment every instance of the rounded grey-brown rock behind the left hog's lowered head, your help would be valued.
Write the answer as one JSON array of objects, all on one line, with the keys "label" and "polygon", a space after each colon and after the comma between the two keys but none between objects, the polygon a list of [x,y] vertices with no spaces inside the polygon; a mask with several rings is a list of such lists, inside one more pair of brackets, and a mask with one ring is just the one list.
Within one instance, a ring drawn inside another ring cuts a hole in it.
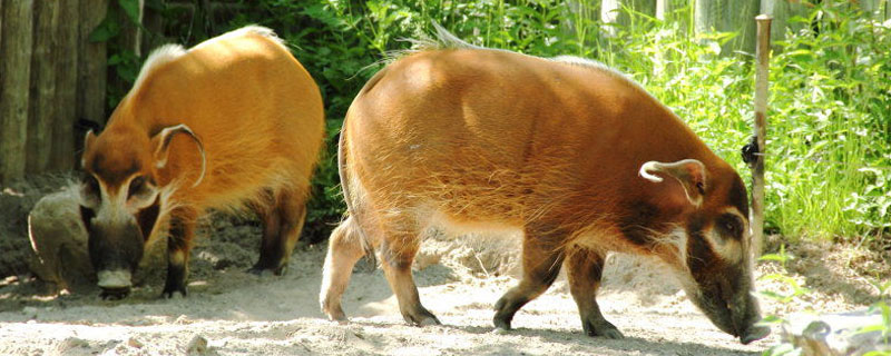
[{"label": "rounded grey-brown rock behind the left hog's lowered head", "polygon": [[[96,293],[96,274],[87,250],[87,229],[80,218],[80,194],[76,185],[41,198],[28,215],[28,235],[38,260],[31,271],[57,290]],[[134,283],[163,280],[166,244],[149,244],[134,275]]]}]

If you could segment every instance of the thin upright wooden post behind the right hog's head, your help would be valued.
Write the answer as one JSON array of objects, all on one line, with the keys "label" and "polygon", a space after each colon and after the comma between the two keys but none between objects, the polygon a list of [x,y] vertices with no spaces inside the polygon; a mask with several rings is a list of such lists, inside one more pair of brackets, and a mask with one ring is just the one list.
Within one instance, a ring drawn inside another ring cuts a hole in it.
[{"label": "thin upright wooden post behind the right hog's head", "polygon": [[757,22],[757,49],[755,70],[755,141],[758,152],[752,164],[752,250],[761,257],[764,246],[764,152],[767,131],[767,69],[771,58],[771,16],[760,14]]}]

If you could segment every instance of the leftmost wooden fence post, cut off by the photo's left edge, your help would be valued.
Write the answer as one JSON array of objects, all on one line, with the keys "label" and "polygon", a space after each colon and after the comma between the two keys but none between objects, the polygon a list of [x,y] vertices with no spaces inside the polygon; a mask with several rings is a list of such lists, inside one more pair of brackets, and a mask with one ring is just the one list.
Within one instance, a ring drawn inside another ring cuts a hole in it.
[{"label": "leftmost wooden fence post, cut off by the photo's left edge", "polygon": [[2,1],[0,40],[0,181],[25,176],[33,1]]}]

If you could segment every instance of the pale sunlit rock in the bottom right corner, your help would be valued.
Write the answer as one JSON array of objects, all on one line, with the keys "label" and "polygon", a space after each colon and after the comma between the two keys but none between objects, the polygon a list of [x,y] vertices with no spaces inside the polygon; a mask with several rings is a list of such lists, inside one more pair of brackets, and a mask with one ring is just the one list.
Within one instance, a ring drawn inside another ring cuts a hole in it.
[{"label": "pale sunlit rock in the bottom right corner", "polygon": [[783,325],[782,337],[801,349],[801,355],[863,355],[868,352],[891,352],[891,344],[881,330],[860,333],[860,328],[881,325],[878,310],[826,315],[794,315]]}]

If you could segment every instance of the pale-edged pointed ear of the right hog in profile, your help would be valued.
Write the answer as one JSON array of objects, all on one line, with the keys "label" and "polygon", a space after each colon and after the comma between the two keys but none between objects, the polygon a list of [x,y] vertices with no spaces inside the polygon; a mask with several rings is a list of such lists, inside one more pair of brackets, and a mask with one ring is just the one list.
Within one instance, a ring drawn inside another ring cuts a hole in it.
[{"label": "pale-edged pointed ear of the right hog in profile", "polygon": [[662,174],[677,179],[684,187],[687,200],[695,207],[699,207],[705,195],[705,165],[696,159],[683,159],[676,162],[648,161],[640,166],[640,177],[655,182],[660,182],[662,177],[654,174]]}]

